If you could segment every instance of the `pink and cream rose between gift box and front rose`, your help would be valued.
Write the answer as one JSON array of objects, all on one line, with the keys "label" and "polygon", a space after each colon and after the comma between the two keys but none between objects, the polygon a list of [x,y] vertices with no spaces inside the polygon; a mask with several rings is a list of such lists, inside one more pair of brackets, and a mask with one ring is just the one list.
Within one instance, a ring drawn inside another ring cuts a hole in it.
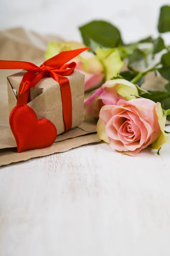
[{"label": "pink and cream rose between gift box and front rose", "polygon": [[125,79],[113,79],[106,81],[85,102],[85,117],[99,117],[100,109],[104,105],[116,105],[119,99],[135,99],[139,96],[137,87]]}]

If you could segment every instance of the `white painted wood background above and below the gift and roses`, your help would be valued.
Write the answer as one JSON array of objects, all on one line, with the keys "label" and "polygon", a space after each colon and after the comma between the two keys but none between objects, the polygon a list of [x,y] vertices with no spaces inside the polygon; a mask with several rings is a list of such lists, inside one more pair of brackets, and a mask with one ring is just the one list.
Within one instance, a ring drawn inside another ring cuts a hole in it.
[{"label": "white painted wood background above and below the gift and roses", "polygon": [[[78,40],[78,25],[102,18],[130,42],[156,36],[164,3],[1,1],[0,29],[22,25]],[[161,156],[128,157],[100,143],[0,169],[0,256],[169,255],[170,141]]]}]

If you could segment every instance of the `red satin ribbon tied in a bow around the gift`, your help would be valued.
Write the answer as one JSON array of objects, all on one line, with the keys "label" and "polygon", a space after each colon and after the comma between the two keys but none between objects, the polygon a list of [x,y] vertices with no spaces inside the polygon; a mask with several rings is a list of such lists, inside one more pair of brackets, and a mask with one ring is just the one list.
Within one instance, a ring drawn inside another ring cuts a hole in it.
[{"label": "red satin ribbon tied in a bow around the gift", "polygon": [[72,127],[71,88],[69,80],[65,76],[74,73],[76,62],[66,63],[87,49],[90,48],[60,52],[42,63],[40,67],[26,61],[0,61],[0,69],[24,69],[28,71],[20,82],[17,105],[27,104],[31,87],[43,78],[52,77],[60,85],[65,131],[70,130]]}]

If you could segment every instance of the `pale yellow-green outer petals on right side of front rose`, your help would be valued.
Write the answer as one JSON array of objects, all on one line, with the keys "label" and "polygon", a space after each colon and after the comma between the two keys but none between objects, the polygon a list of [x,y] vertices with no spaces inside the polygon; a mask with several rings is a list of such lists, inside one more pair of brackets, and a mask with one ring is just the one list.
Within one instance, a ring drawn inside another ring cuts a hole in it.
[{"label": "pale yellow-green outer petals on right side of front rose", "polygon": [[156,103],[156,114],[158,116],[159,126],[161,128],[161,135],[159,138],[151,145],[152,149],[159,149],[161,148],[164,143],[168,141],[168,135],[164,132],[166,116],[164,115],[164,111],[161,108],[161,103]]}]

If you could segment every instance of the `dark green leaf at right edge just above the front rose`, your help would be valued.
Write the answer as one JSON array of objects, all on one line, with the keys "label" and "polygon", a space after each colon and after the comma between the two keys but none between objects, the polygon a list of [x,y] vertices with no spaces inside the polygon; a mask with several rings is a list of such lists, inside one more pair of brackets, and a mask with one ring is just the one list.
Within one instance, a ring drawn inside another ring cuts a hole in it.
[{"label": "dark green leaf at right edge just above the front rose", "polygon": [[148,90],[149,93],[142,94],[143,98],[151,99],[154,102],[162,102],[163,100],[170,98],[170,93],[166,91],[151,91]]}]

